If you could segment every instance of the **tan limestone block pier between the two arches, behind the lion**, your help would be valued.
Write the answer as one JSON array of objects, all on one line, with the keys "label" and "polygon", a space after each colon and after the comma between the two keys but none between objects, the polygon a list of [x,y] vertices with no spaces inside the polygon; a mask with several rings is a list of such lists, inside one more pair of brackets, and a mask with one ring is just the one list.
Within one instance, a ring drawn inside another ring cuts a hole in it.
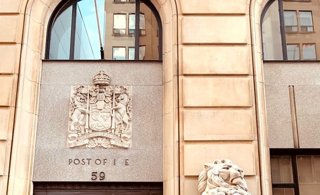
[{"label": "tan limestone block pier between the two arches, behind the lion", "polygon": [[198,194],[204,163],[229,158],[260,194],[249,4],[181,0],[180,194]]}]

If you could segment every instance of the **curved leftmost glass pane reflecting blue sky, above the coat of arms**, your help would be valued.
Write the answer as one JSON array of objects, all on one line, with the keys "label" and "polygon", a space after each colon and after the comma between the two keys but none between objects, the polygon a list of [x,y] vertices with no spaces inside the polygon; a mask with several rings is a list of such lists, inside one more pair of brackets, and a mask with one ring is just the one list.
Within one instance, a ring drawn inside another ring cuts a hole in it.
[{"label": "curved leftmost glass pane reflecting blue sky, above the coat of arms", "polygon": [[70,58],[72,6],[63,11],[51,29],[49,59]]}]

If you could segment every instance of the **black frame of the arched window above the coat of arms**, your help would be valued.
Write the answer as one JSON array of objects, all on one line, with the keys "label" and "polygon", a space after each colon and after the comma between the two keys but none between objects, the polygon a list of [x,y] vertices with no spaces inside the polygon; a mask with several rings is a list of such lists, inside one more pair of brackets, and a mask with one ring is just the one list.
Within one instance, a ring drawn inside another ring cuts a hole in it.
[{"label": "black frame of the arched window above the coat of arms", "polygon": [[[68,9],[69,7],[72,7],[72,18],[71,18],[71,41],[70,41],[70,55],[69,59],[74,59],[74,53],[75,53],[75,34],[76,34],[76,17],[77,17],[77,3],[81,0],[65,0],[61,1],[58,6],[54,9],[54,11],[51,14],[51,17],[49,19],[48,27],[47,27],[47,36],[46,36],[46,46],[45,46],[45,59],[50,59],[50,39],[51,39],[51,31],[53,29],[53,24],[56,21],[56,19],[60,16],[60,14]],[[136,16],[140,13],[140,3],[144,3],[152,12],[154,15],[156,22],[157,22],[157,29],[158,29],[158,59],[163,59],[163,25],[161,17],[155,8],[155,6],[151,3],[150,0],[135,0],[133,1],[126,1],[126,2],[114,2],[113,3],[135,3],[136,5]],[[140,14],[139,14],[140,16]],[[129,17],[129,16],[128,16]],[[127,17],[126,17],[127,20]],[[136,28],[135,28],[135,35],[140,35],[140,29],[139,29],[139,23],[140,23],[140,17],[136,17]],[[127,25],[127,22],[126,22]],[[138,27],[137,27],[138,26]],[[113,30],[113,20],[112,20],[112,30]],[[128,32],[129,32],[129,26],[128,26]],[[120,35],[124,36],[124,35]],[[128,36],[128,35],[126,35]],[[135,36],[135,47],[139,48],[140,43],[140,36]],[[110,43],[106,43],[110,44]],[[111,45],[111,44],[110,44]],[[104,48],[101,48],[101,59],[104,59]],[[79,59],[81,60],[81,59]],[[139,60],[139,49],[135,50],[135,60]]]}]

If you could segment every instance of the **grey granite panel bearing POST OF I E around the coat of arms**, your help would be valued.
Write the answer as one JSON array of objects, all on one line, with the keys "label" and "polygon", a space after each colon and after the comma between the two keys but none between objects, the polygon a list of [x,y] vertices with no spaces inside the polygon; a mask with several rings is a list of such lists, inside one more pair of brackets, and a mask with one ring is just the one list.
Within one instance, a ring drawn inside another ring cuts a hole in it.
[{"label": "grey granite panel bearing POST OF I E around the coat of arms", "polygon": [[[68,148],[71,87],[93,85],[100,70],[111,77],[110,85],[133,88],[132,145]],[[162,101],[162,62],[44,61],[33,180],[92,181],[92,172],[104,172],[103,181],[163,181]]]}]

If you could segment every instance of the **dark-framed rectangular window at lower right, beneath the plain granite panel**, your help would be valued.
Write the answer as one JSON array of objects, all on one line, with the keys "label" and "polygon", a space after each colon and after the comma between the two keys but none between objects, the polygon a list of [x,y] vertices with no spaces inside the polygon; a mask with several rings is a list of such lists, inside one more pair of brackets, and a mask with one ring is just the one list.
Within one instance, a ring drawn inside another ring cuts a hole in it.
[{"label": "dark-framed rectangular window at lower right, beneath the plain granite panel", "polygon": [[273,195],[318,194],[319,154],[318,149],[271,149]]}]

